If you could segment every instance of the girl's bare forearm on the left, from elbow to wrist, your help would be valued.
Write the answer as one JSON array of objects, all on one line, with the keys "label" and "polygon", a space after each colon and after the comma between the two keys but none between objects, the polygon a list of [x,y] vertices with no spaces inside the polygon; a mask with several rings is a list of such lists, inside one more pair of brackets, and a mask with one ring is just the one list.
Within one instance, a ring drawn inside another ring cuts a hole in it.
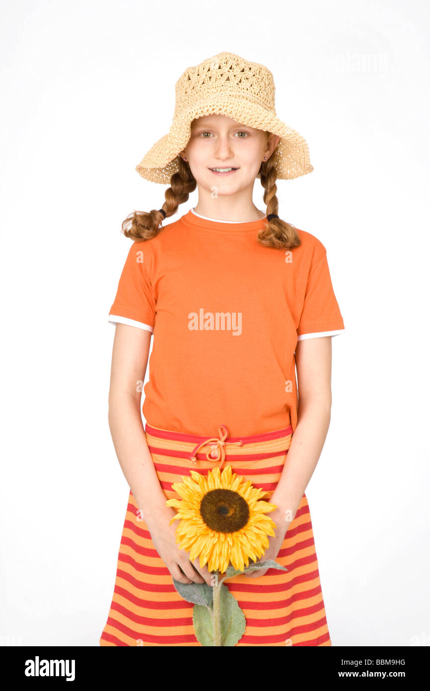
[{"label": "girl's bare forearm on the left, from elbow to wrist", "polygon": [[111,397],[108,420],[119,464],[144,520],[145,516],[168,511],[146,442],[139,399],[126,394]]}]

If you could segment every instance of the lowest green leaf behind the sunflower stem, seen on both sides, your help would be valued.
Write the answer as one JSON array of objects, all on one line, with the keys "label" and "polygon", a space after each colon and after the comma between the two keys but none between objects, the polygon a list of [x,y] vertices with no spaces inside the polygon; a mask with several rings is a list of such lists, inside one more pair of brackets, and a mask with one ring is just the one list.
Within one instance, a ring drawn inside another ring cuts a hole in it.
[{"label": "lowest green leaf behind the sunflower stem, seen on both sides", "polygon": [[[213,621],[212,607],[194,605],[193,625],[194,632],[199,643],[213,646]],[[221,645],[233,647],[244,635],[246,628],[245,615],[239,607],[236,598],[225,585],[219,590],[219,616],[221,618]]]}]

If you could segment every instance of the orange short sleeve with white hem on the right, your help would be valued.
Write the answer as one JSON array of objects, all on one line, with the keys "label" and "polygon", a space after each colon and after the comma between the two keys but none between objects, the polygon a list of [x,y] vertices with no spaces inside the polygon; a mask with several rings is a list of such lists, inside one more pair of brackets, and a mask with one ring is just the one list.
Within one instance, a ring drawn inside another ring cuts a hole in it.
[{"label": "orange short sleeve with white hem on the right", "polygon": [[324,249],[323,256],[314,261],[309,269],[302,314],[297,327],[297,341],[337,336],[344,330],[344,321],[335,298]]}]

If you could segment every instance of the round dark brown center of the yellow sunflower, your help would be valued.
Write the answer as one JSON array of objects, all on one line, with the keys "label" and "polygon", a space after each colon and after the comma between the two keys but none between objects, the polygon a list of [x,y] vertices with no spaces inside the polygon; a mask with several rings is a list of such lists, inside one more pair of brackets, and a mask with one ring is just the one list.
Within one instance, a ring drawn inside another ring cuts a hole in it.
[{"label": "round dark brown center of the yellow sunflower", "polygon": [[249,520],[246,500],[231,489],[213,489],[205,494],[200,513],[208,528],[217,533],[235,533]]}]

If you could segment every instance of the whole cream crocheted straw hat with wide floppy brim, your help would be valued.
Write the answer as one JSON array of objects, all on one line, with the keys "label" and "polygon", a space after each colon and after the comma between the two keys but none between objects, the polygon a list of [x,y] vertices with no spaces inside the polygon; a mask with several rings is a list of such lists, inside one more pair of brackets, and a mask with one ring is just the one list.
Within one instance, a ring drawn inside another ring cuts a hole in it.
[{"label": "whole cream crocheted straw hat with wide floppy brim", "polygon": [[170,177],[178,169],[179,151],[185,149],[190,139],[191,122],[212,113],[279,135],[272,157],[280,180],[313,171],[306,141],[275,113],[271,71],[234,53],[218,53],[196,67],[188,67],[176,82],[170,130],[136,166],[139,175],[151,182],[170,184]]}]

